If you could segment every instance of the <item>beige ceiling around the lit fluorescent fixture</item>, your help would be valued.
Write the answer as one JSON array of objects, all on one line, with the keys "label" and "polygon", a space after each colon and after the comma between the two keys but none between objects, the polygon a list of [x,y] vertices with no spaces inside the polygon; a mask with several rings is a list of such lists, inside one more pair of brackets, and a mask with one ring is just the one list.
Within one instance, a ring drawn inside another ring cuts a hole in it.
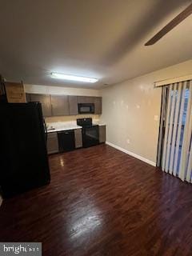
[{"label": "beige ceiling around the lit fluorescent fixture", "polygon": [[[101,88],[192,58],[192,15],[144,46],[189,0],[2,0],[0,73],[36,85]],[[50,72],[98,78],[63,82]]]}]

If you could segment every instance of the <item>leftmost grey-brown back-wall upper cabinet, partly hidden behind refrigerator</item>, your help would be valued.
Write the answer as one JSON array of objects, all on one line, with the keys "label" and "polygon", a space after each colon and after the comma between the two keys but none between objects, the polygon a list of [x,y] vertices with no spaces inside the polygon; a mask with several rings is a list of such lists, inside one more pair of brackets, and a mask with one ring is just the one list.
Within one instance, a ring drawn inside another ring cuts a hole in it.
[{"label": "leftmost grey-brown back-wall upper cabinet, partly hidden behind refrigerator", "polygon": [[50,95],[48,94],[30,94],[26,96],[27,100],[30,102],[41,102],[42,103],[42,114],[43,116],[51,116],[51,104],[50,104]]}]

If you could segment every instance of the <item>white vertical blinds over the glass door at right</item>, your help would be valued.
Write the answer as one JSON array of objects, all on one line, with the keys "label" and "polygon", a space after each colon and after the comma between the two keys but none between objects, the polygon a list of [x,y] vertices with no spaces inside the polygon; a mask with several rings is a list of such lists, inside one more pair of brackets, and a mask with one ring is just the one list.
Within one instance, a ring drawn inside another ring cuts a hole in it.
[{"label": "white vertical blinds over the glass door at right", "polygon": [[192,182],[192,80],[163,86],[159,136],[158,165]]}]

